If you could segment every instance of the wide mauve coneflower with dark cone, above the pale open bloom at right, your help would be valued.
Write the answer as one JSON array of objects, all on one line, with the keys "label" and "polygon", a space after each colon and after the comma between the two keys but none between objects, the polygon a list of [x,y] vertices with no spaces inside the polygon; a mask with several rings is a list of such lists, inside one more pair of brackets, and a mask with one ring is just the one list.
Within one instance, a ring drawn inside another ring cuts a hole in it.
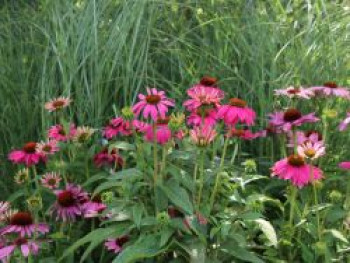
[{"label": "wide mauve coneflower with dark cone, above the pale open bloom at right", "polygon": [[290,131],[292,127],[301,126],[304,123],[317,122],[320,119],[315,113],[302,115],[297,109],[288,109],[285,112],[275,112],[269,115],[270,124],[284,132]]}]

